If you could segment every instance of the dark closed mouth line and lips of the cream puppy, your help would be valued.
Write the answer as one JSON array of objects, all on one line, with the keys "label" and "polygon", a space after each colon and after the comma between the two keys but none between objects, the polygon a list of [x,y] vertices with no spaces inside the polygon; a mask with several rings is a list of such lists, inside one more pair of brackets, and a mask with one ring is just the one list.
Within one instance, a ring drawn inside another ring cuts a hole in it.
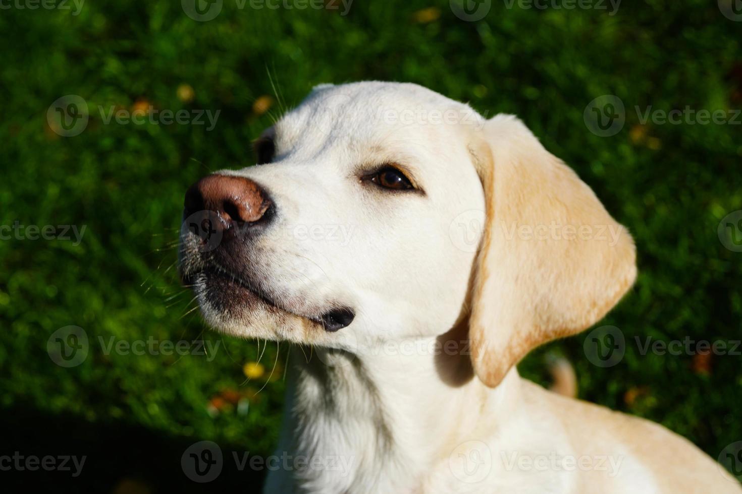
[{"label": "dark closed mouth line and lips of the cream puppy", "polygon": [[301,318],[328,333],[335,333],[349,326],[355,318],[355,311],[349,307],[334,308],[317,316],[297,313],[255,283],[213,261],[196,272],[183,273],[182,281],[186,286],[193,287],[202,304],[206,301],[213,309],[225,315],[260,308],[270,313]]}]

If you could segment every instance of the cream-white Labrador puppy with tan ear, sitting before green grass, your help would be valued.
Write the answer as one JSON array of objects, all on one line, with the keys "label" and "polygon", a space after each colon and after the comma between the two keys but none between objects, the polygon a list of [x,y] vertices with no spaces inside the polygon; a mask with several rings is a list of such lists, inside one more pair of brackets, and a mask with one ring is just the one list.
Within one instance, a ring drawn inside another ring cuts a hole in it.
[{"label": "cream-white Labrador puppy with tan ear, sitting before green grass", "polygon": [[519,377],[637,270],[518,119],[323,85],[256,147],[188,190],[181,269],[214,327],[293,343],[266,493],[742,492],[660,425]]}]

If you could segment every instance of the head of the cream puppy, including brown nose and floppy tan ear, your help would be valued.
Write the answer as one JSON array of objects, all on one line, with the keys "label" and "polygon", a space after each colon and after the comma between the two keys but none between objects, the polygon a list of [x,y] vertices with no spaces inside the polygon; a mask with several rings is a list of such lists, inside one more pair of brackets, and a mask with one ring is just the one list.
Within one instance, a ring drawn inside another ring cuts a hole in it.
[{"label": "head of the cream puppy, including brown nose and floppy tan ear", "polygon": [[355,352],[466,323],[495,386],[634,280],[628,232],[511,116],[413,84],[324,85],[256,151],[185,196],[183,278],[234,335]]}]

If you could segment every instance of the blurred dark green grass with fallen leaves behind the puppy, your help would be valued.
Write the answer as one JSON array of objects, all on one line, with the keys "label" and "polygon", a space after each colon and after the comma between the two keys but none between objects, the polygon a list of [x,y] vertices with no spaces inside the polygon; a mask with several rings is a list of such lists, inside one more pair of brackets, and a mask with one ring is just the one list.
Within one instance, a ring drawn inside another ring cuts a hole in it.
[{"label": "blurred dark green grass with fallen leaves behind the puppy", "polygon": [[[742,127],[642,124],[633,110],[742,107],[742,23],[716,1],[627,1],[613,16],[494,1],[474,22],[444,0],[355,0],[347,16],[226,0],[206,22],[177,1],[88,1],[77,15],[72,3],[13,5],[0,15],[0,224],[87,226],[78,246],[0,241],[0,454],[88,455],[78,478],[25,472],[21,484],[260,487],[263,473],[226,469],[203,486],[180,467],[185,447],[205,439],[226,455],[271,453],[285,357],[275,344],[211,333],[188,313],[191,294],[171,268],[183,193],[211,170],[251,164],[251,141],[280,114],[279,99],[291,107],[315,84],[362,79],[412,81],[489,116],[516,113],[634,234],[640,277],[601,323],[626,335],[623,361],[591,364],[583,334],[537,351],[522,373],[545,381],[543,357],[557,351],[574,363],[581,398],[659,421],[714,458],[742,440],[741,356],[643,356],[634,344],[741,337],[742,253],[723,247],[717,227],[742,209]],[[68,94],[90,109],[79,136],[47,121]],[[627,108],[626,126],[605,138],[583,121],[604,94]],[[208,132],[105,124],[97,110],[148,104],[220,116]],[[70,324],[91,350],[63,368],[47,338]],[[106,355],[99,337],[222,346],[209,357]],[[245,367],[259,358],[262,369]]]}]

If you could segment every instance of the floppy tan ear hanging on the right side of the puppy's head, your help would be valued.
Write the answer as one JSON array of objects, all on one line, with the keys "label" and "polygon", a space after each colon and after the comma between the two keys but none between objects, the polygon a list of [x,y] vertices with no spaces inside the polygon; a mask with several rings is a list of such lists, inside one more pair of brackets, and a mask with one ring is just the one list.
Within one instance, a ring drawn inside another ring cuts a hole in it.
[{"label": "floppy tan ear hanging on the right side of the puppy's head", "polygon": [[479,132],[487,225],[469,331],[476,375],[494,387],[533,348],[603,318],[637,269],[626,228],[521,121],[496,116]]}]

